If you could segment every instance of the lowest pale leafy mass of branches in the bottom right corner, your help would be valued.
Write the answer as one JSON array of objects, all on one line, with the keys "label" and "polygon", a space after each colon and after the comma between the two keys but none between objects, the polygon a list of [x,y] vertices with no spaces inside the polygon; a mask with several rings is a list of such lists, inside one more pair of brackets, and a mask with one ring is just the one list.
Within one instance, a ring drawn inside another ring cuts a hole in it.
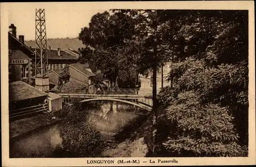
[{"label": "lowest pale leafy mass of branches in the bottom right corner", "polygon": [[240,146],[227,108],[218,104],[200,105],[193,91],[180,93],[168,107],[167,118],[177,124],[175,137],[165,143],[167,149],[186,151],[195,156],[236,156]]}]

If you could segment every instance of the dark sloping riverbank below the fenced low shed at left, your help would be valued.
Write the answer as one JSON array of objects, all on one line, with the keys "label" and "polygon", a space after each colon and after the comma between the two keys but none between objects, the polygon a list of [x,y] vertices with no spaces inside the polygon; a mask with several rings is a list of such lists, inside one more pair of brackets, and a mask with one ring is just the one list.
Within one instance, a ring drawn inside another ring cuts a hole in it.
[{"label": "dark sloping riverbank below the fenced low shed at left", "polygon": [[40,114],[37,116],[23,118],[20,120],[10,121],[10,133],[9,138],[14,138],[24,133],[30,132],[37,128],[41,128],[50,124],[54,124],[60,121],[54,117],[53,113]]}]

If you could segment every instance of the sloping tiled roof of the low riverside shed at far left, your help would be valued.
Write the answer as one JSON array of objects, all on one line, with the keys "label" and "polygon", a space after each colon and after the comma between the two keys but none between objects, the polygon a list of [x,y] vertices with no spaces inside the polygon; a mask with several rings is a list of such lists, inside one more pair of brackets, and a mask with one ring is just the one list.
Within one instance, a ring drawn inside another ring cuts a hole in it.
[{"label": "sloping tiled roof of the low riverside shed at far left", "polygon": [[9,102],[22,101],[47,95],[47,93],[42,92],[23,81],[10,82],[9,84]]}]

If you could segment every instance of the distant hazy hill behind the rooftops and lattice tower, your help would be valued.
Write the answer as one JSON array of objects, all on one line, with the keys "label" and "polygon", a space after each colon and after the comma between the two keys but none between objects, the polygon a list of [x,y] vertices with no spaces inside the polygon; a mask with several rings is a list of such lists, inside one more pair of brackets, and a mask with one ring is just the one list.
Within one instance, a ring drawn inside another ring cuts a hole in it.
[{"label": "distant hazy hill behind the rooftops and lattice tower", "polygon": [[[27,46],[35,47],[35,41],[25,41]],[[51,49],[57,50],[59,47],[61,50],[63,49],[74,49],[78,50],[79,47],[84,47],[82,41],[78,38],[56,38],[56,39],[47,39],[47,46],[51,46]]]}]

